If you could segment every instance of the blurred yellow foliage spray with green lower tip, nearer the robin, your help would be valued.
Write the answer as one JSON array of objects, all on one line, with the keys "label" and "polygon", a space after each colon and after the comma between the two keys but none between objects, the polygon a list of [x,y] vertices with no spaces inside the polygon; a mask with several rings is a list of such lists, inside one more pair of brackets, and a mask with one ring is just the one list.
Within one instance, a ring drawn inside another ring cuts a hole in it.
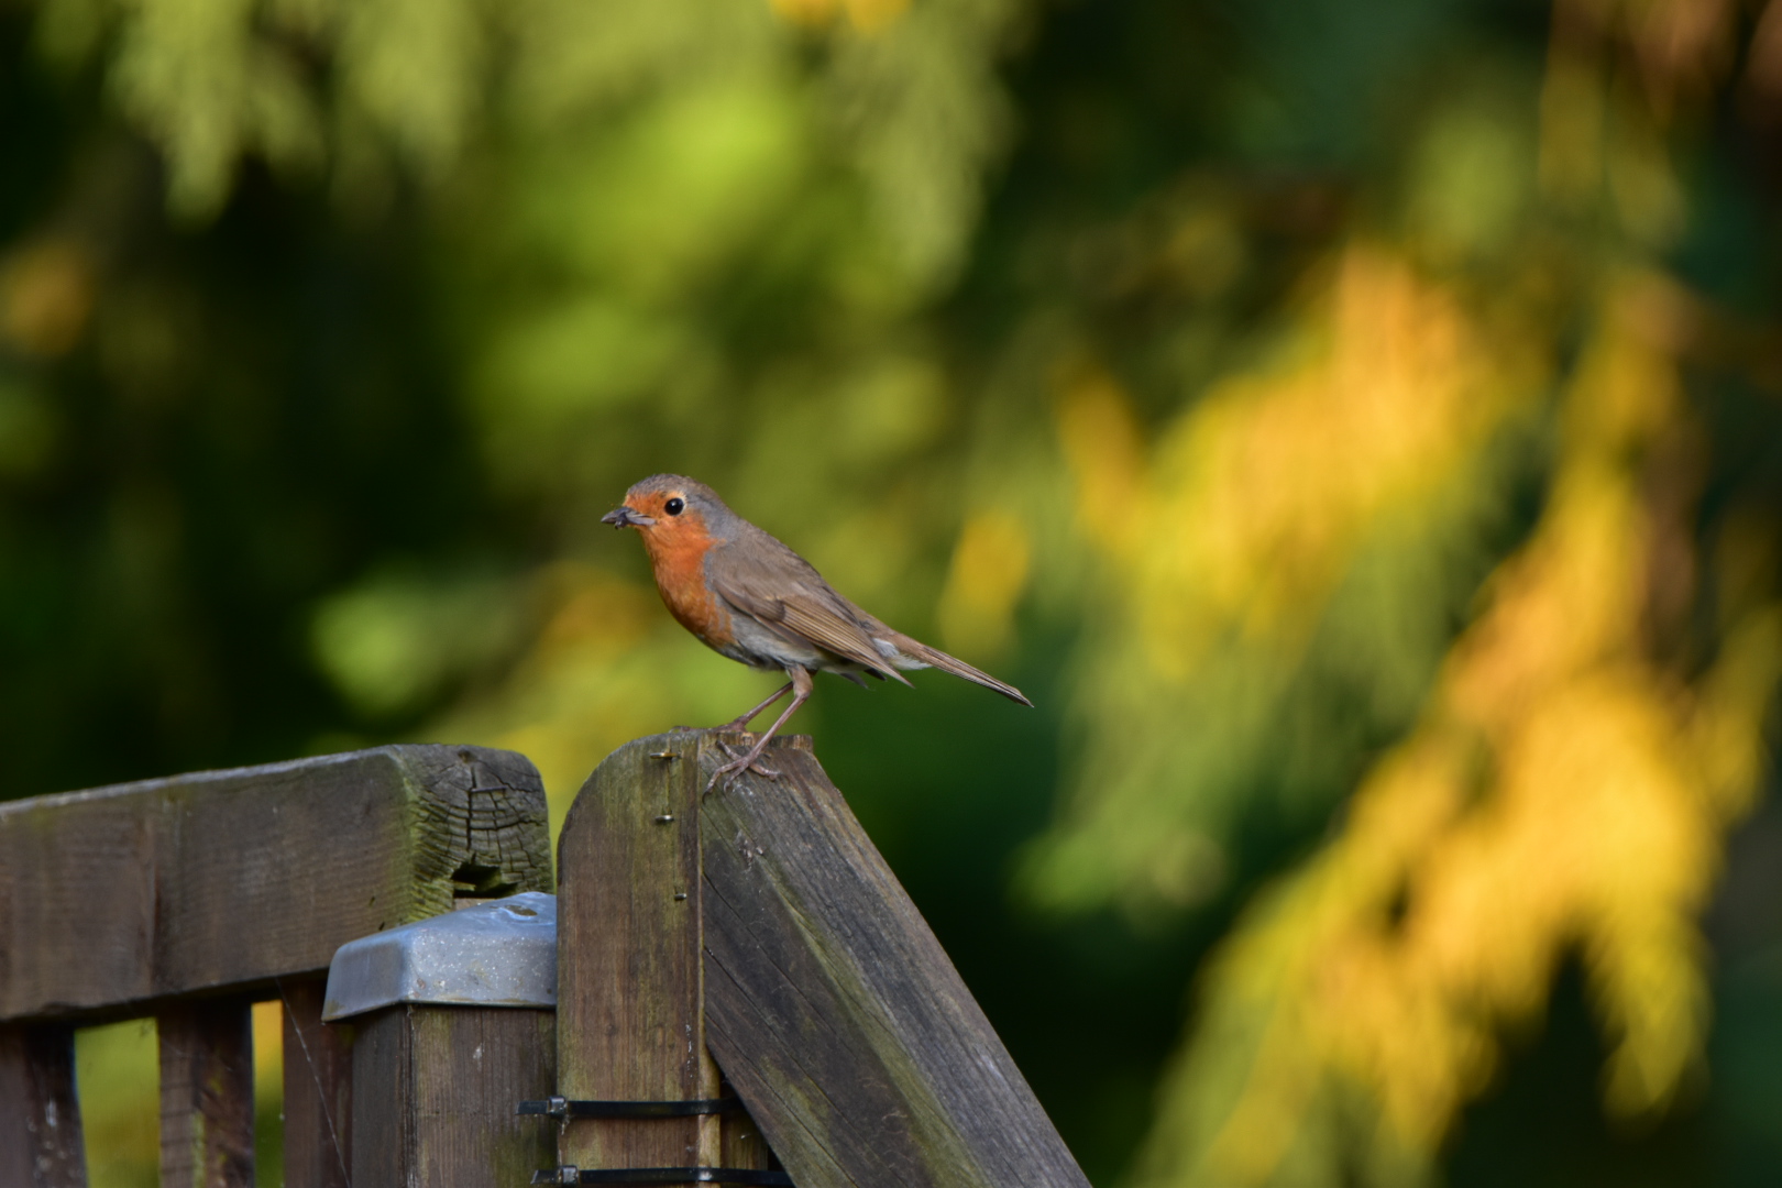
[{"label": "blurred yellow foliage spray with green lower tip, nearer the robin", "polygon": [[1351,246],[1320,280],[1274,362],[1215,385],[1151,449],[1108,376],[1066,379],[1076,520],[1110,568],[1085,775],[1025,873],[1042,903],[1144,912],[1219,889],[1233,809],[1208,800],[1235,796],[1228,755],[1276,750],[1249,732],[1274,721],[1358,554],[1452,531],[1454,488],[1477,486],[1534,403],[1540,338],[1499,331],[1397,253]]}]

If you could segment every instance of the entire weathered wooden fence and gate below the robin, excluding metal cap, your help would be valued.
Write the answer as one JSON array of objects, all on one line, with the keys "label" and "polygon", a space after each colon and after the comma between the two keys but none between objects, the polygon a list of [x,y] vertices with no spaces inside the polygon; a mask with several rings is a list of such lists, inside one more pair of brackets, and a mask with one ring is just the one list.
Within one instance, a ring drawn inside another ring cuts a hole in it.
[{"label": "entire weathered wooden fence and gate below the robin, excluding metal cap", "polygon": [[[289,1188],[1087,1188],[805,737],[615,752],[563,826],[558,1006],[321,1024],[346,942],[551,891],[520,755],[390,746],[0,805],[0,1188],[84,1184],[75,1026],[160,1026],[162,1184],[253,1183],[285,1003]],[[531,1176],[527,1176],[531,1172]]]}]

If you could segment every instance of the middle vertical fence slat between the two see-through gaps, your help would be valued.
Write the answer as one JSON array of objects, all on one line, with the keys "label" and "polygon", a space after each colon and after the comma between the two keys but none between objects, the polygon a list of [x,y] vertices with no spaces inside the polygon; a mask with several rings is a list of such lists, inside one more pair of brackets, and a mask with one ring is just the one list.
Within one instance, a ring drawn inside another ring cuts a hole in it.
[{"label": "middle vertical fence slat between the two see-through gaps", "polygon": [[253,1188],[253,1003],[164,1012],[160,1188]]}]

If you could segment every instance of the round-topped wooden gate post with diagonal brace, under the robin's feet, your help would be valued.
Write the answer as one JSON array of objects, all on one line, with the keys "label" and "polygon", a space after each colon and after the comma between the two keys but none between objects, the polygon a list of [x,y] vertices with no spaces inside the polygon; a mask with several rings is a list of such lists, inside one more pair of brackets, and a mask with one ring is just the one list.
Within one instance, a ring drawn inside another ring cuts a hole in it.
[{"label": "round-topped wooden gate post with diagonal brace, under the robin's feet", "polygon": [[[772,1156],[797,1188],[1089,1188],[809,739],[775,739],[779,778],[704,793],[747,741],[629,743],[563,825],[556,1183]],[[720,1069],[772,1152],[709,1115],[576,1120],[570,1099],[709,1099]]]}]

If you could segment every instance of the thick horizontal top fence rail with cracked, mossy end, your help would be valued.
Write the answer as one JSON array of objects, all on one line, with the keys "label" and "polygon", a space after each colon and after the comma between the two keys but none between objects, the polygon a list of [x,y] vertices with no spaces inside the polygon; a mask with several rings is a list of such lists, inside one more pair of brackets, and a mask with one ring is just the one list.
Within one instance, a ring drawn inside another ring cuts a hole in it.
[{"label": "thick horizontal top fence rail with cracked, mossy end", "polygon": [[453,896],[551,891],[522,755],[383,746],[0,803],[0,1021],[326,971]]}]

